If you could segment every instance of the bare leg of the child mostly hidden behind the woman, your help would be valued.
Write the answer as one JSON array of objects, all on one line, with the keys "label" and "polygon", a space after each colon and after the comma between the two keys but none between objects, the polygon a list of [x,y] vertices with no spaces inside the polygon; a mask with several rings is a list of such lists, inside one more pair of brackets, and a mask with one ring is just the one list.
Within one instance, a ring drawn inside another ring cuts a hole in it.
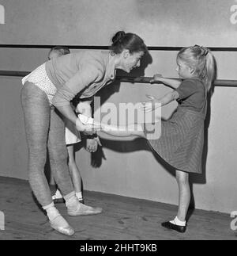
[{"label": "bare leg of the child mostly hidden behind the woman", "polygon": [[80,170],[77,168],[77,163],[75,161],[73,144],[67,146],[67,151],[69,157],[68,166],[70,170],[70,176],[73,181],[75,192],[79,193],[81,192],[81,174]]}]

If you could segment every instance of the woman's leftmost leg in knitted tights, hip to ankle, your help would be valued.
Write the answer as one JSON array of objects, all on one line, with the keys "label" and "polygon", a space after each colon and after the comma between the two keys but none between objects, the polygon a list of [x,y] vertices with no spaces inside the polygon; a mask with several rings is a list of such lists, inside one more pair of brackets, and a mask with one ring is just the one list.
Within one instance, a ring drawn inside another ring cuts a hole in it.
[{"label": "woman's leftmost leg in knitted tights, hip to ankle", "polygon": [[28,179],[37,200],[45,206],[51,204],[51,191],[44,174],[50,105],[43,90],[29,82],[21,90],[21,105],[28,143]]}]

